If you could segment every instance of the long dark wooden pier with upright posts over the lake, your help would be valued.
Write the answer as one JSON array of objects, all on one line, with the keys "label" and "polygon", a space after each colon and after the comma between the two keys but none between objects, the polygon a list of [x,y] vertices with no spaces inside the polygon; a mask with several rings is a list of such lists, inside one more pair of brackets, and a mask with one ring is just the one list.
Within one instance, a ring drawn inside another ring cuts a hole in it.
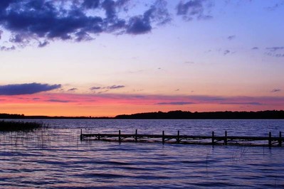
[{"label": "long dark wooden pier with upright posts over the lake", "polygon": [[81,129],[80,140],[102,140],[102,141],[118,141],[118,142],[162,142],[175,144],[211,144],[211,145],[243,145],[243,146],[279,146],[284,141],[281,131],[278,136],[272,136],[271,132],[268,136],[230,136],[225,131],[223,136],[216,136],[212,131],[210,136],[200,135],[182,135],[177,131],[177,135],[168,135],[162,131],[162,134],[122,134],[119,130],[117,134],[83,134]]}]

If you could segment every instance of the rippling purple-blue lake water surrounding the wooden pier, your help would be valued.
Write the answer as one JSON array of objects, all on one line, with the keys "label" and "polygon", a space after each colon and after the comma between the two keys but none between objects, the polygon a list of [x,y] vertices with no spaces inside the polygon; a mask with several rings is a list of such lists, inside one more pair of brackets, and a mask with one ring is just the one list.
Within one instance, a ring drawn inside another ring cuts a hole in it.
[{"label": "rippling purple-blue lake water surrounding the wooden pier", "polygon": [[[34,121],[34,120],[33,120]],[[80,141],[83,132],[267,136],[284,120],[37,120],[0,135],[0,188],[284,188],[284,147]]]}]

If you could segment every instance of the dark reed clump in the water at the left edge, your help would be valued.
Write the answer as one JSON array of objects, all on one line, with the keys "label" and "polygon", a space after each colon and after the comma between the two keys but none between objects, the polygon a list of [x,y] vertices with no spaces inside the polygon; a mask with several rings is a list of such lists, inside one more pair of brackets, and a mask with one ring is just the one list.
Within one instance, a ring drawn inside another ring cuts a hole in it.
[{"label": "dark reed clump in the water at the left edge", "polygon": [[0,131],[33,131],[46,127],[42,123],[30,121],[0,121]]}]

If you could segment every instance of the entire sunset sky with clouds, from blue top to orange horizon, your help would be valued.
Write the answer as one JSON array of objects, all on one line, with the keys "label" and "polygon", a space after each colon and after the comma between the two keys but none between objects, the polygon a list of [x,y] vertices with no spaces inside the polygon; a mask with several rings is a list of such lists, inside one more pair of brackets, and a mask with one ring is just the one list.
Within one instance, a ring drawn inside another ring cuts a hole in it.
[{"label": "entire sunset sky with clouds, from blue top to orange horizon", "polygon": [[0,1],[0,113],[284,109],[284,0]]}]

